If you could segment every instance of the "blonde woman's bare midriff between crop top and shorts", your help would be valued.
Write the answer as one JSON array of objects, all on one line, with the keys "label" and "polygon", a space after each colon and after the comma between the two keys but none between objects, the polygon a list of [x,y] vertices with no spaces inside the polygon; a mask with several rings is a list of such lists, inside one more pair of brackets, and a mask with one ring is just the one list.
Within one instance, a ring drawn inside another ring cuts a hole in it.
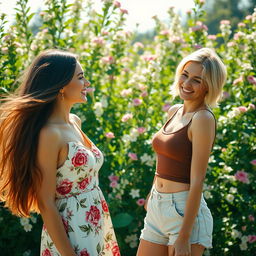
[{"label": "blonde woman's bare midriff between crop top and shorts", "polygon": [[157,176],[155,176],[154,184],[156,190],[160,193],[176,193],[181,191],[187,191],[190,188],[189,184],[166,180]]}]

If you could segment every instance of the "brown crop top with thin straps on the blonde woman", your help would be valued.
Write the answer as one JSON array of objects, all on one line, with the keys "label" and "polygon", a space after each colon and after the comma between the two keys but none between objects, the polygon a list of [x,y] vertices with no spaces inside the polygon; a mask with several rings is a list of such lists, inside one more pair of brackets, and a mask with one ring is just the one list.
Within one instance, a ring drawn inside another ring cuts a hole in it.
[{"label": "brown crop top with thin straps on the blonde woman", "polygon": [[[152,147],[156,152],[157,158],[155,175],[163,179],[190,184],[192,142],[188,138],[188,127],[196,112],[193,114],[189,123],[178,131],[165,131],[165,127],[174,118],[179,109],[176,110],[173,116],[152,139]],[[209,111],[214,117],[214,114],[210,110],[204,110]]]}]

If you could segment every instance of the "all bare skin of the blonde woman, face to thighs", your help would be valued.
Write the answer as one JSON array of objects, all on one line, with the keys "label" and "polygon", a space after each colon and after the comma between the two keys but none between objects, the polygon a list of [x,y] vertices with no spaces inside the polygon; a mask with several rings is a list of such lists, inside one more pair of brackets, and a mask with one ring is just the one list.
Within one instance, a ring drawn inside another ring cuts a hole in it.
[{"label": "all bare skin of the blonde woman, face to thighs", "polygon": [[[166,131],[177,131],[191,120],[188,128],[188,138],[192,142],[192,161],[190,184],[171,180],[154,178],[154,185],[159,192],[174,193],[189,191],[185,207],[184,219],[179,235],[173,245],[159,245],[145,240],[140,241],[137,256],[201,256],[204,247],[199,244],[190,244],[189,239],[193,224],[200,206],[203,183],[206,175],[212,143],[215,136],[214,117],[206,110],[204,103],[207,87],[201,79],[202,65],[197,62],[188,62],[181,73],[179,80],[179,96],[183,100],[183,107],[178,110],[173,120],[166,127]],[[169,118],[181,105],[174,105],[168,111]],[[200,110],[200,111],[199,111]]]}]

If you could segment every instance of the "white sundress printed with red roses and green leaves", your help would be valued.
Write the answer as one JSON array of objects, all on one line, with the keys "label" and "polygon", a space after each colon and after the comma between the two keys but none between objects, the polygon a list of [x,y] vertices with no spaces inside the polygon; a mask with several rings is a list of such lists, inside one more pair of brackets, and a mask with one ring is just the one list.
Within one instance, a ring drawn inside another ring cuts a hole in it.
[{"label": "white sundress printed with red roses and green leaves", "polygon": [[[68,143],[68,157],[57,170],[56,205],[78,256],[119,256],[108,205],[98,186],[103,155],[77,142]],[[43,226],[41,256],[61,256]]]}]

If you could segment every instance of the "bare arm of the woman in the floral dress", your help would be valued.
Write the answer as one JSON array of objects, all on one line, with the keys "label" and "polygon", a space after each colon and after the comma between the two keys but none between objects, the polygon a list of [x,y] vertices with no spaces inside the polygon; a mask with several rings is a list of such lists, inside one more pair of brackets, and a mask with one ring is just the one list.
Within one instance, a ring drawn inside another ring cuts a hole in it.
[{"label": "bare arm of the woman in the floral dress", "polygon": [[46,127],[40,132],[37,161],[42,172],[42,184],[37,192],[38,206],[47,231],[60,254],[62,256],[75,256],[55,205],[60,140],[59,131],[54,128]]}]

